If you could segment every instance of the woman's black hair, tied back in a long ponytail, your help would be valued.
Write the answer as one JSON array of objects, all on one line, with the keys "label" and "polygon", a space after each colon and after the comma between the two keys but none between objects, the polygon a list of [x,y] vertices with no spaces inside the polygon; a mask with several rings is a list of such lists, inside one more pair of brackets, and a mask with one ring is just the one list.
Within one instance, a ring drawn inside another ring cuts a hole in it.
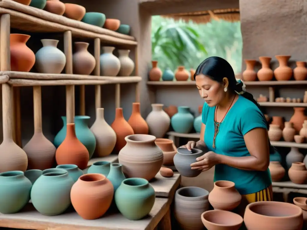
[{"label": "woman's black hair, tied back in a long ponytail", "polygon": [[[195,74],[194,74],[194,79],[196,78],[197,75],[206,75],[209,78],[211,78],[214,81],[223,82],[223,78],[228,79],[228,89],[231,90],[233,93],[236,92],[242,92],[242,86],[243,82],[240,81],[239,83],[237,82],[235,78],[235,73],[231,67],[231,65],[223,58],[221,57],[208,57],[205,59],[200,65],[197,67]],[[258,102],[254,99],[254,96],[248,92],[244,92],[241,94],[244,98],[250,100],[253,102],[257,107],[260,109],[260,105]],[[262,113],[263,118],[266,120],[264,114]],[[269,130],[269,124],[266,122],[267,129]],[[270,154],[273,154],[275,152],[275,148],[271,145],[270,140],[269,140],[269,145],[270,145]]]}]

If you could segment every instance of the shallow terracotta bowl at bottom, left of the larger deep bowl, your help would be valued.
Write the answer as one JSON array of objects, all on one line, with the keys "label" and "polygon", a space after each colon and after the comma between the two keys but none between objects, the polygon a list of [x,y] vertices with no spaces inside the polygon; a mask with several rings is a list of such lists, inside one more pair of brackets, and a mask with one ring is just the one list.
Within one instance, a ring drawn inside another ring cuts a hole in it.
[{"label": "shallow terracotta bowl at bottom, left of the larger deep bowl", "polygon": [[243,218],[229,211],[209,210],[201,214],[201,221],[208,230],[238,230]]}]

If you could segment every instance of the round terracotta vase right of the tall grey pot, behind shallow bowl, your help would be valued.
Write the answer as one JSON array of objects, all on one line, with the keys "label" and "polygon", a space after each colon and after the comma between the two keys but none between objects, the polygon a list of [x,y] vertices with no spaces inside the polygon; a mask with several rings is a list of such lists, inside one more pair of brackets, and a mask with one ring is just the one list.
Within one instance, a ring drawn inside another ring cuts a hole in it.
[{"label": "round terracotta vase right of the tall grey pot, behind shallow bowl", "polygon": [[214,209],[231,211],[241,203],[242,196],[235,189],[235,183],[231,181],[214,182],[213,190],[208,200]]}]

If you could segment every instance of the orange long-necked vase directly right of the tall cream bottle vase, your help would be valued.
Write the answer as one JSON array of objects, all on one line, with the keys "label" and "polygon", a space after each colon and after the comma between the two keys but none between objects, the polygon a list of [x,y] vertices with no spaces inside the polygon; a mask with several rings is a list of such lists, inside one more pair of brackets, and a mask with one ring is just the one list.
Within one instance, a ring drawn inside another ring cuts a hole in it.
[{"label": "orange long-necked vase directly right of the tall cream bottle vase", "polygon": [[115,119],[111,124],[111,128],[113,128],[116,133],[116,144],[114,149],[116,152],[119,152],[126,145],[125,137],[134,134],[132,127],[122,114],[122,108],[116,108]]}]

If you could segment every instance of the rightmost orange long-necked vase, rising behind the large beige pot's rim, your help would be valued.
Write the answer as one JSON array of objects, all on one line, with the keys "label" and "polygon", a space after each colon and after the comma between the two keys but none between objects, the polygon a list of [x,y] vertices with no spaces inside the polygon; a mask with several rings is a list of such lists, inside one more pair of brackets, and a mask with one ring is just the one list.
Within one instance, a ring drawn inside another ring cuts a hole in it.
[{"label": "rightmost orange long-necked vase, rising behind the large beige pot's rim", "polygon": [[149,128],[146,121],[141,116],[139,102],[132,103],[132,113],[128,123],[131,125],[134,134],[148,134]]}]

